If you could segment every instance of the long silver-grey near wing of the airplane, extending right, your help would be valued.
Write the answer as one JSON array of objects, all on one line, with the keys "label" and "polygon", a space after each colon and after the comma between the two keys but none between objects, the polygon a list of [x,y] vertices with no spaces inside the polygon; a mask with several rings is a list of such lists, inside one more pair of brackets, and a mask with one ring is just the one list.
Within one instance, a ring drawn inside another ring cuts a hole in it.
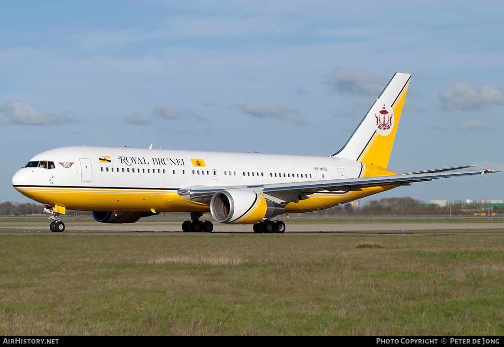
[{"label": "long silver-grey near wing of the airplane, extending right", "polygon": [[410,186],[414,182],[431,181],[436,179],[444,179],[449,177],[462,177],[491,174],[492,172],[500,172],[497,170],[468,170],[458,172],[448,172],[460,168],[471,166],[459,166],[444,169],[434,169],[428,171],[412,172],[410,174],[398,174],[380,177],[362,177],[344,180],[323,180],[309,182],[292,182],[279,184],[251,185],[251,186],[226,186],[226,187],[209,187],[209,186],[193,186],[184,189],[179,189],[178,194],[185,198],[198,202],[209,202],[212,196],[224,189],[242,189],[260,192],[263,196],[276,203],[288,203],[291,201],[297,202],[300,199],[306,199],[308,195],[321,192],[351,192],[360,191],[362,188],[380,187],[380,186]]}]

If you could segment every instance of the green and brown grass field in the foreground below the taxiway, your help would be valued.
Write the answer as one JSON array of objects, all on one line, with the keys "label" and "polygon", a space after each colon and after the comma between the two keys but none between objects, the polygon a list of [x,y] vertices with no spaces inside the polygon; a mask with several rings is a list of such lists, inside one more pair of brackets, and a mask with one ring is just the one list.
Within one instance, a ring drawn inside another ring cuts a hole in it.
[{"label": "green and brown grass field in the foreground below the taxiway", "polygon": [[0,335],[504,331],[502,236],[0,240]]}]

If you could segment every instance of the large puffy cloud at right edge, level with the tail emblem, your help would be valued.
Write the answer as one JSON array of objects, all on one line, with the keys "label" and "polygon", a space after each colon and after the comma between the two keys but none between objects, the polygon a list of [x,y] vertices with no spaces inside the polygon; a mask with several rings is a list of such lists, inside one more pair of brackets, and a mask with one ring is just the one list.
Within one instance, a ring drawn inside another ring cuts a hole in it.
[{"label": "large puffy cloud at right edge, level with the tail emblem", "polygon": [[440,109],[480,110],[485,106],[504,105],[504,95],[497,88],[481,85],[476,89],[467,83],[455,81],[448,88],[440,91],[437,98],[441,101]]}]

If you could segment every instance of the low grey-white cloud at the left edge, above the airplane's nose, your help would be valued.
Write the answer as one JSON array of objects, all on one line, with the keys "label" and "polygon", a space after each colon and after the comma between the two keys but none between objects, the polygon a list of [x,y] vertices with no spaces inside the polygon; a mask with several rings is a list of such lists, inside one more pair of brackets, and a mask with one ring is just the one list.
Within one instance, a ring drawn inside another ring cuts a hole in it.
[{"label": "low grey-white cloud at the left edge, above the airplane's nose", "polygon": [[67,114],[42,113],[37,108],[22,101],[9,100],[0,106],[0,112],[9,118],[12,124],[50,125],[78,122],[77,117]]}]

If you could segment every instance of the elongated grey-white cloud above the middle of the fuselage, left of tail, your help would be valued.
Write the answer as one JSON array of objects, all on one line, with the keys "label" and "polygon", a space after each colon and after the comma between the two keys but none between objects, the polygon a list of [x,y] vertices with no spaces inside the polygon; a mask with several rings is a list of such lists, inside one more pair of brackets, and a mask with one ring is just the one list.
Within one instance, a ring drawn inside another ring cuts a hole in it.
[{"label": "elongated grey-white cloud above the middle of the fuselage, left of tail", "polygon": [[291,123],[299,127],[308,124],[308,121],[301,117],[301,113],[298,109],[289,108],[285,105],[269,105],[245,101],[234,104],[233,108],[240,109],[246,114],[260,119],[274,119],[280,122]]}]

